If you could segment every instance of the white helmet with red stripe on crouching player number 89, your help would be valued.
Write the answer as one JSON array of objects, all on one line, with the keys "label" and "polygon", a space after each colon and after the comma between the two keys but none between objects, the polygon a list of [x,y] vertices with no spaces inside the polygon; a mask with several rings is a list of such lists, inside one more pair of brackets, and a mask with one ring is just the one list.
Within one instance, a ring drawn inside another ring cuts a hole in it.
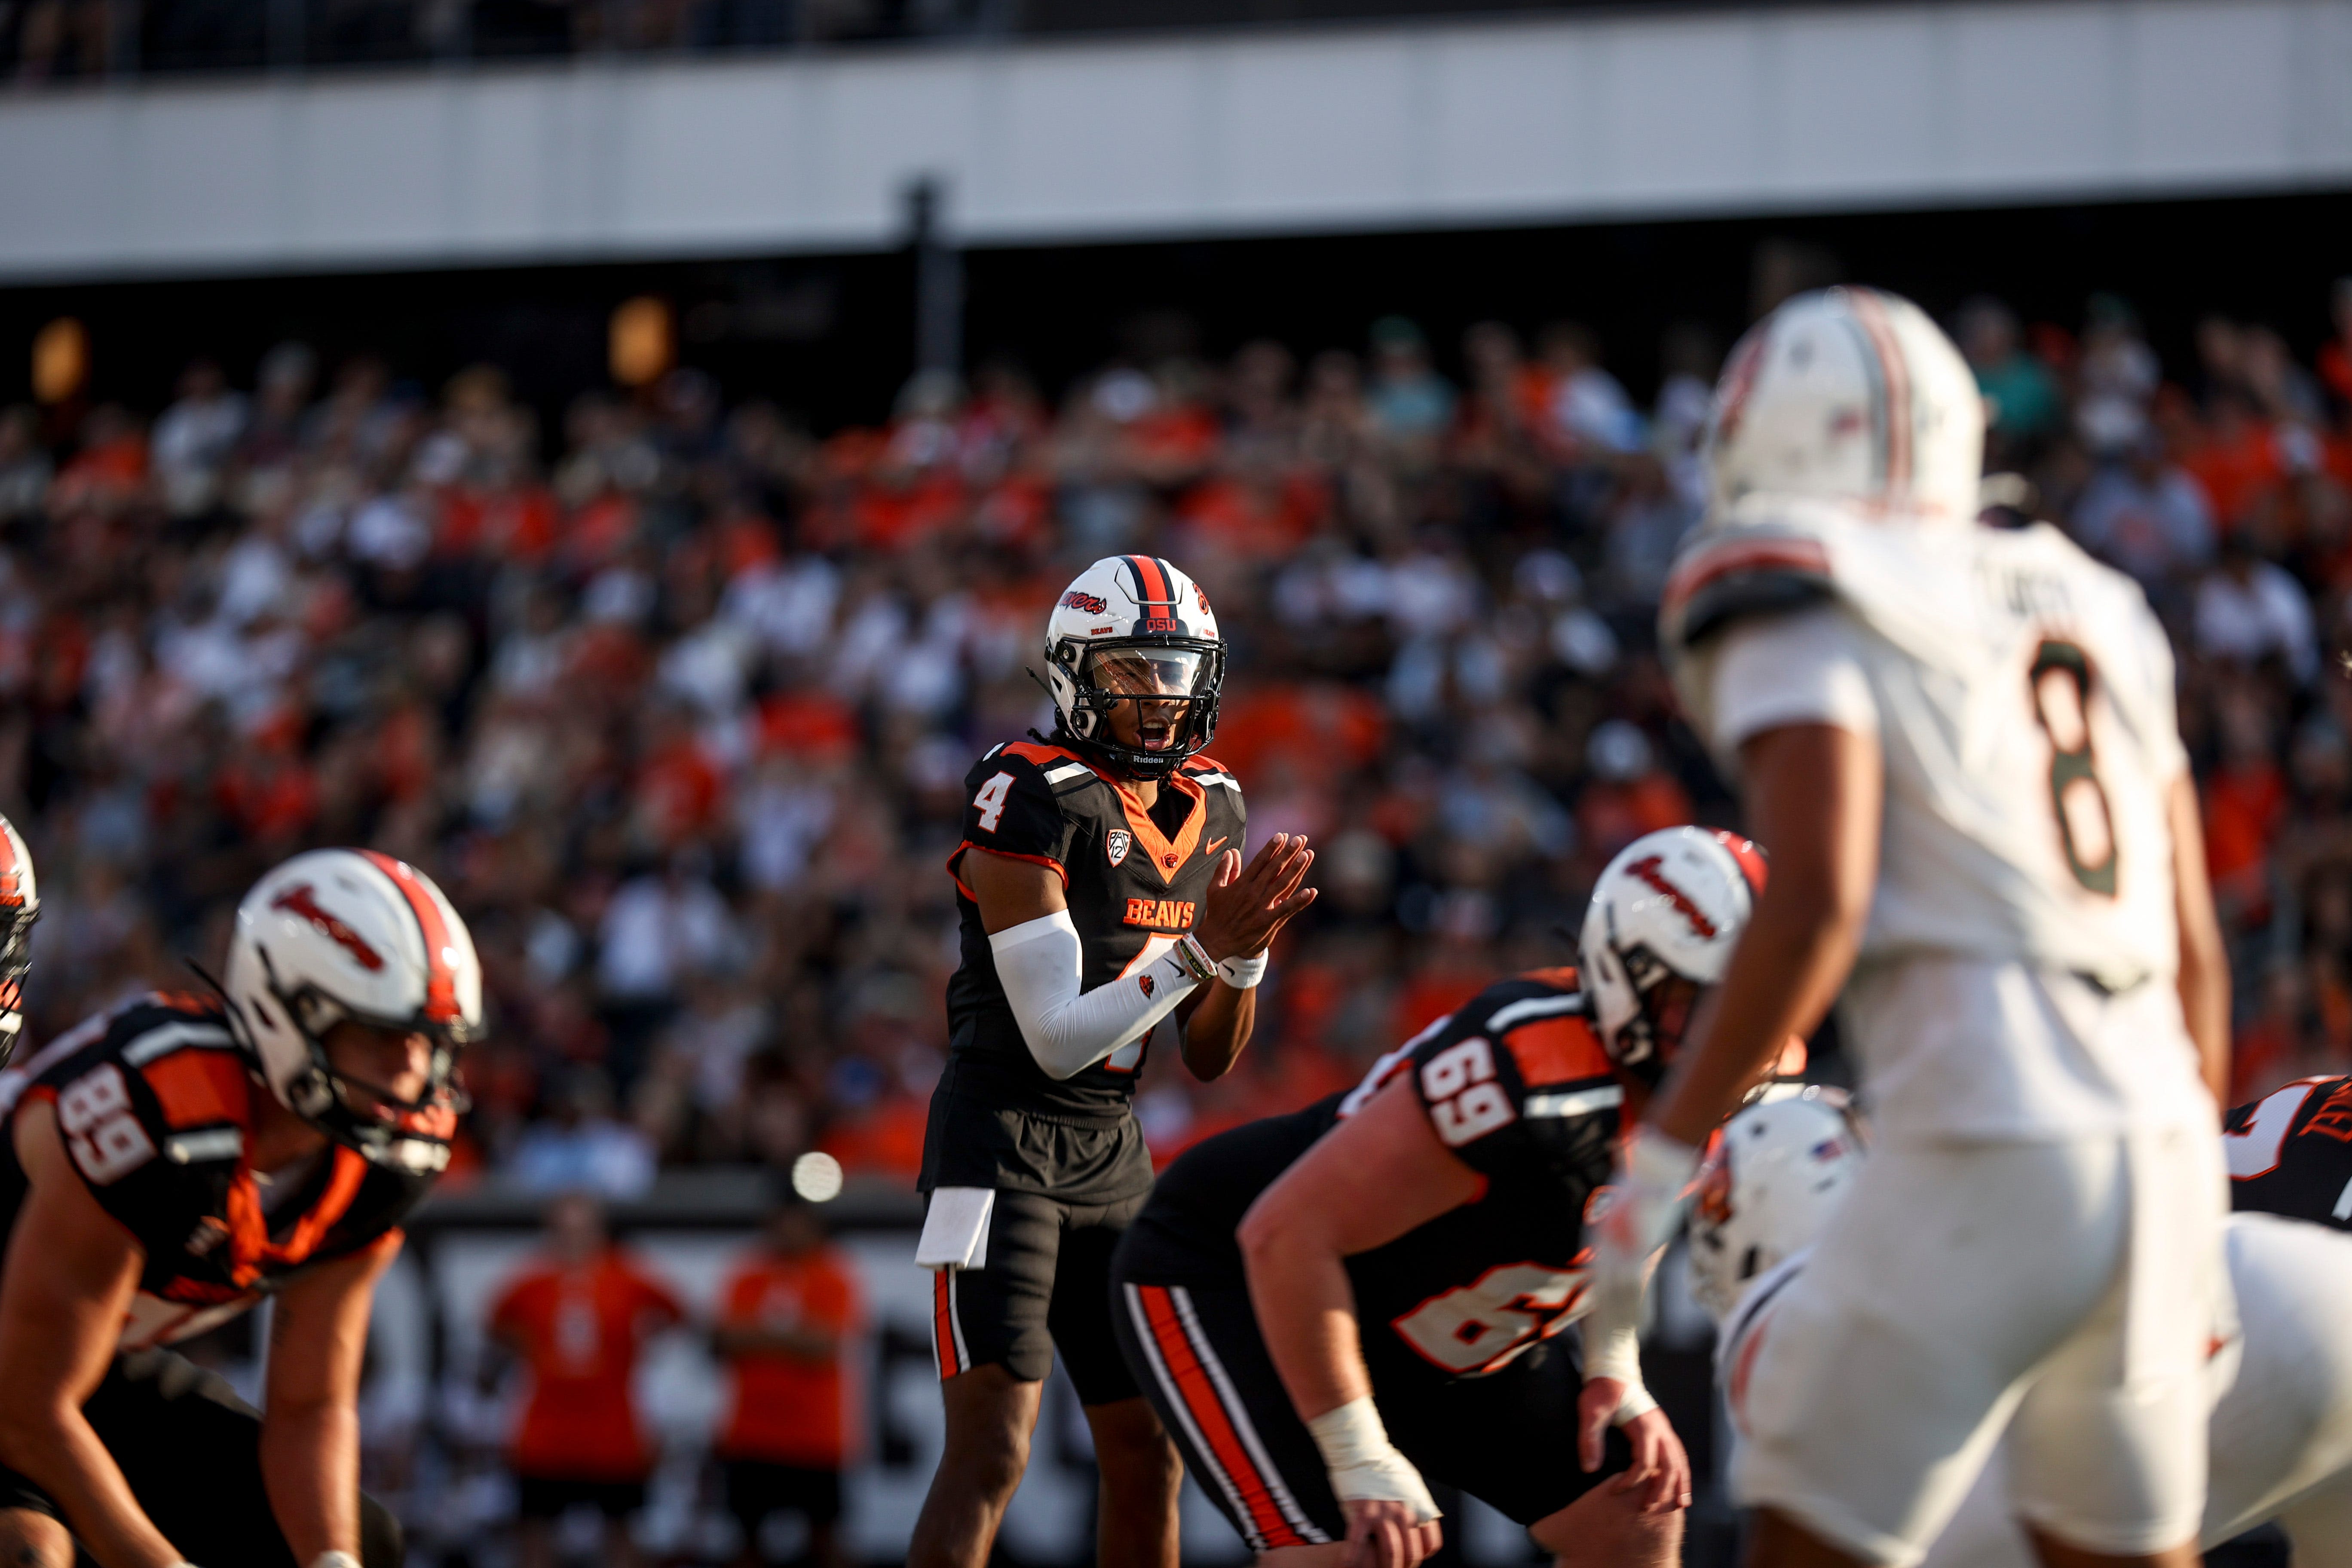
[{"label": "white helmet with red stripe on crouching player number 89", "polygon": [[[430,877],[372,849],[294,856],[238,905],[221,990],[238,1039],[287,1110],[381,1166],[449,1164],[463,1110],[456,1053],[482,1030],[482,961]],[[402,1100],[336,1072],[325,1037],[346,1018],[426,1034],[426,1093]]]}]

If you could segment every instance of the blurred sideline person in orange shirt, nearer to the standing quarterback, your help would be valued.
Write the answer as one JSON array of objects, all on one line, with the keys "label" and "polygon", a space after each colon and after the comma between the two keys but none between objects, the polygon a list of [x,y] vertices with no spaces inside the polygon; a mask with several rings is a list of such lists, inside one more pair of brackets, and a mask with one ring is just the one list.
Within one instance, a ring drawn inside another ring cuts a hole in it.
[{"label": "blurred sideline person in orange shirt, nearer to the standing quarterback", "polygon": [[835,1521],[856,1448],[849,1345],[863,1319],[856,1274],[816,1208],[779,1201],[760,1251],[729,1276],[710,1333],[734,1385],[717,1455],[727,1512],[743,1526],[741,1568],[760,1563],[760,1526],[781,1512],[809,1521],[809,1563],[844,1561]]}]

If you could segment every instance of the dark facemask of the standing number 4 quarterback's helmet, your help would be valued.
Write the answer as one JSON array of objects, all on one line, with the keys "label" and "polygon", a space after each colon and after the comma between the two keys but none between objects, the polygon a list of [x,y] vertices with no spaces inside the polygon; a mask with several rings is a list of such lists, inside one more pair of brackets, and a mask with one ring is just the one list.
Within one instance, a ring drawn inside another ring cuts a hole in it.
[{"label": "dark facemask of the standing number 4 quarterback's helmet", "polygon": [[[1063,637],[1047,649],[1054,696],[1070,741],[1129,778],[1167,778],[1216,733],[1225,649],[1207,637]],[[1136,703],[1145,745],[1112,731],[1120,703]],[[1157,710],[1157,712],[1155,712]],[[1157,729],[1162,726],[1164,729]],[[1152,743],[1157,741],[1157,745]]]}]

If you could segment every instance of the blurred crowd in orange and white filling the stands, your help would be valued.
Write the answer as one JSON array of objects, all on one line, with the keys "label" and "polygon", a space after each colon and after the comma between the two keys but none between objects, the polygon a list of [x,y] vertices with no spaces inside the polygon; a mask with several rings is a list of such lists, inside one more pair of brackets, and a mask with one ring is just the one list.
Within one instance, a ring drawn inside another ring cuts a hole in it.
[{"label": "blurred crowd in orange and white filling the stands", "polygon": [[[2352,292],[2293,353],[2209,320],[2164,364],[2129,303],[1950,324],[1992,484],[2131,571],[2234,945],[2241,1088],[2352,1070]],[[960,780],[1047,729],[1047,604],[1084,562],[1192,571],[1232,642],[1211,755],[1251,846],[1317,842],[1244,1065],[1152,1063],[1167,1154],[1305,1103],[1498,971],[1571,957],[1635,835],[1733,820],[1651,616],[1703,505],[1719,343],[1639,407],[1595,336],[1402,317],[1298,360],[915,376],[816,437],[694,369],[541,428],[270,350],[148,418],[0,414],[0,809],[45,917],[35,1039],[183,985],[308,844],[423,865],[494,1027],[459,1175],[642,1192],[818,1147],[903,1182],[955,964]],[[242,376],[240,376],[242,381]]]}]

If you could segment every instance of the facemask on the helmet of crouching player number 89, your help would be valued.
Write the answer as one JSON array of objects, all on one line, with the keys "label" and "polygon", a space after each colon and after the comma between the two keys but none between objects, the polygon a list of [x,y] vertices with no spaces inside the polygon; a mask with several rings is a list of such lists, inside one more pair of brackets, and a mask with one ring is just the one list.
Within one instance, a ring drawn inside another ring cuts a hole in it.
[{"label": "facemask on the helmet of crouching player number 89", "polygon": [[[270,1001],[285,1011],[310,1056],[310,1065],[285,1086],[287,1110],[374,1166],[405,1175],[433,1175],[447,1168],[456,1119],[473,1107],[456,1081],[456,1058],[473,1044],[475,1030],[463,1020],[372,1018],[315,985],[287,992],[278,983],[268,952],[259,952],[259,957],[268,973]],[[327,1051],[327,1034],[346,1020],[390,1034],[430,1039],[433,1065],[423,1093],[407,1100],[383,1084],[369,1084],[336,1067]]]}]

